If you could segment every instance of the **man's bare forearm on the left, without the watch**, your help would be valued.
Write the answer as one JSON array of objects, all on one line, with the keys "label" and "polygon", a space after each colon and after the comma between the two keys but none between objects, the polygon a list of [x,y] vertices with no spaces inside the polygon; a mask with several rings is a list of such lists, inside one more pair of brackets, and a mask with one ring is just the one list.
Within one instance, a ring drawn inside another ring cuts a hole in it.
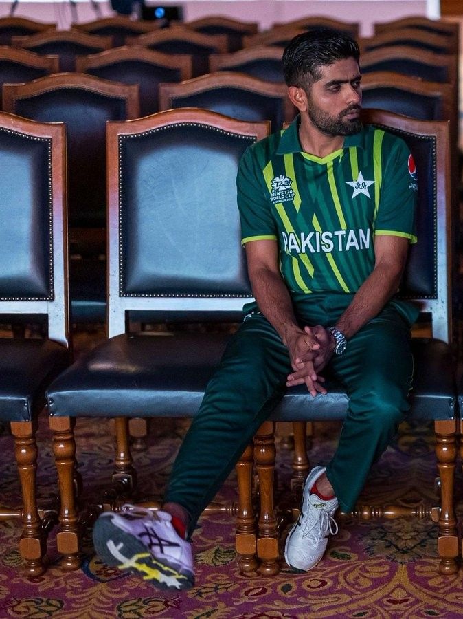
[{"label": "man's bare forearm on the left, without the watch", "polygon": [[251,284],[260,311],[288,346],[289,340],[302,329],[297,325],[291,296],[282,277],[262,268],[253,272]]}]

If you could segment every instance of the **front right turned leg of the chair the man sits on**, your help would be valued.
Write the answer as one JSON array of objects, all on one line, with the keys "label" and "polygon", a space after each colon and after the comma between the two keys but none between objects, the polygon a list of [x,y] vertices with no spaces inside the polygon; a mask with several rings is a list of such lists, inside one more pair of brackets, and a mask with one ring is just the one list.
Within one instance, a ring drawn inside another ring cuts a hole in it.
[{"label": "front right turned leg of the chair the man sits on", "polygon": [[438,553],[441,574],[455,574],[458,571],[458,533],[453,504],[455,462],[457,458],[456,420],[435,421],[436,457],[441,482],[439,514]]}]

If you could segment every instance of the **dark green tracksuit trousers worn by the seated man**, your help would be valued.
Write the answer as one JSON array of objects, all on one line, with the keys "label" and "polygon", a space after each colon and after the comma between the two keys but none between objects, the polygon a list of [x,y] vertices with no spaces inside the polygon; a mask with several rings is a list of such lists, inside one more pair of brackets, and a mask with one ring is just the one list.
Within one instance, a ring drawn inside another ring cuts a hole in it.
[{"label": "dark green tracksuit trousers worn by the seated man", "polygon": [[[301,325],[328,326],[351,300],[352,295],[317,295],[296,303],[295,312]],[[409,323],[394,303],[360,329],[344,354],[332,357],[327,370],[350,398],[339,445],[326,470],[341,510],[350,512],[370,467],[409,411]],[[259,312],[247,316],[207,385],[166,491],[166,502],[179,503],[190,514],[189,535],[284,395],[291,371],[288,350],[269,321]]]}]

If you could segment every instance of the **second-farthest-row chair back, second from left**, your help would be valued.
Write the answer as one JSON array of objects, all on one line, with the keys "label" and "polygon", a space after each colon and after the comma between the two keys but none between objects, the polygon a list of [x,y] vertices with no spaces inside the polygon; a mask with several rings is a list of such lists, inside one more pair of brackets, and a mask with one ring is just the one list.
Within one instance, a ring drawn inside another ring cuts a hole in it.
[{"label": "second-farthest-row chair back, second from left", "polygon": [[193,77],[209,70],[210,54],[227,52],[226,34],[201,34],[181,26],[171,26],[141,36],[126,38],[127,45],[144,45],[165,54],[190,54],[193,59]]}]

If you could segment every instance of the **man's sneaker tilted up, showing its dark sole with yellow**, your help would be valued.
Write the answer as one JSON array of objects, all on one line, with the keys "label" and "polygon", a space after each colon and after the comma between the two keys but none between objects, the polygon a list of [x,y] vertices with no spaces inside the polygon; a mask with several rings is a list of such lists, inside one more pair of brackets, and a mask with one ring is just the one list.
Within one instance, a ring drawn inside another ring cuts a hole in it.
[{"label": "man's sneaker tilted up, showing its dark sole with yellow", "polygon": [[124,505],[103,512],[93,527],[95,551],[107,565],[142,574],[160,589],[194,585],[191,544],[181,539],[167,512]]}]

